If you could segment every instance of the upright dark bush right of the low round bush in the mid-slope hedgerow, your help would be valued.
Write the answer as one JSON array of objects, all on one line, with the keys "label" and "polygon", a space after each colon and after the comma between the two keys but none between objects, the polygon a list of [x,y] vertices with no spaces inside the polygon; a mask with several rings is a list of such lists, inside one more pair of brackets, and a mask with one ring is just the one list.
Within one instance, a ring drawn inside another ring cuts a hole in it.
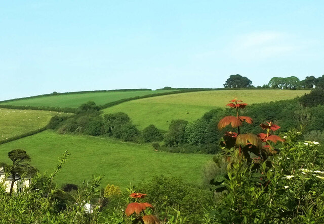
[{"label": "upright dark bush right of the low round bush in the mid-slope hedgerow", "polygon": [[178,146],[185,142],[184,133],[188,122],[184,120],[172,120],[169,131],[164,136],[165,144],[169,147]]}]

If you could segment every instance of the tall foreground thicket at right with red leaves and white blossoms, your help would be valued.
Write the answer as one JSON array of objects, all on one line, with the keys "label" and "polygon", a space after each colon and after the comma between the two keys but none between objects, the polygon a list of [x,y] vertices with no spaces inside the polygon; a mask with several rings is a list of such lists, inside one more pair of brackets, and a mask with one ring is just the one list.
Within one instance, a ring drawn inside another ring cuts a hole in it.
[{"label": "tall foreground thicket at right with red leaves and white blossoms", "polygon": [[[298,142],[299,131],[274,135],[278,126],[261,124],[266,133],[241,134],[244,121],[238,109],[247,106],[234,100],[229,106],[237,116],[222,119],[219,128],[231,125],[223,153],[216,162],[227,161],[223,175],[212,183],[221,200],[207,215],[209,223],[324,223],[324,161],[319,144]],[[247,122],[247,123],[249,123]],[[241,137],[240,137],[241,136]],[[257,150],[256,150],[257,149]]]}]

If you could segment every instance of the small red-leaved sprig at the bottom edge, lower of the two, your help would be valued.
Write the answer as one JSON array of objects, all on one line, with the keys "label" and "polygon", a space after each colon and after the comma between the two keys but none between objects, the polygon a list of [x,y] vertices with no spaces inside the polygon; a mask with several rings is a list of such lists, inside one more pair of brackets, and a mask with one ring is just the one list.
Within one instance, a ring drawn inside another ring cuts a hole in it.
[{"label": "small red-leaved sprig at the bottom edge, lower of the two", "polygon": [[[144,223],[144,224],[159,224],[159,220],[156,216],[149,214],[146,215],[145,211],[146,208],[152,208],[154,209],[154,207],[147,202],[140,202],[141,198],[144,198],[146,196],[146,194],[141,194],[141,193],[132,193],[130,195],[131,198],[135,199],[135,202],[133,203],[129,203],[127,205],[127,208],[125,210],[125,213],[127,216],[130,216],[132,214],[136,214],[136,218],[134,220],[133,223]],[[140,213],[143,213],[143,215],[140,215]]]}]

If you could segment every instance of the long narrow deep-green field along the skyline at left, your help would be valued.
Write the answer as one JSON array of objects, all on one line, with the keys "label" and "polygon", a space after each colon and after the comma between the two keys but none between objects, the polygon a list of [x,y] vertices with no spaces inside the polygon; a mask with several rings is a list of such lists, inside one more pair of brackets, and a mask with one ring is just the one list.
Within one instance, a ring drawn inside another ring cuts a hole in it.
[{"label": "long narrow deep-green field along the skyline at left", "polygon": [[[170,90],[174,91],[174,90]],[[169,90],[143,90],[143,91],[116,91],[116,92],[93,92],[93,93],[73,93],[53,96],[41,96],[29,99],[17,99],[0,104],[17,106],[51,106],[51,107],[78,107],[82,103],[90,100],[95,101],[97,105],[117,101],[120,99],[131,98],[135,96],[144,96],[170,92]]]}]

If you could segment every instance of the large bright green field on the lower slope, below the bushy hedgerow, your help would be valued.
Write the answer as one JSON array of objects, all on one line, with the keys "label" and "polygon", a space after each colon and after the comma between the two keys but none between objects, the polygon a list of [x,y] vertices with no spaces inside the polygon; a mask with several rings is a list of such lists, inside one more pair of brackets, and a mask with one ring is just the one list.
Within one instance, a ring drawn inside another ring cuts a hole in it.
[{"label": "large bright green field on the lower slope, below the bushy hedgerow", "polygon": [[9,162],[7,153],[20,148],[31,156],[31,164],[51,172],[65,150],[71,153],[55,182],[81,184],[93,174],[105,175],[107,184],[126,188],[154,175],[181,176],[185,182],[201,183],[201,169],[211,155],[156,152],[150,144],[124,143],[106,138],[59,135],[45,131],[0,145],[0,161]]}]

